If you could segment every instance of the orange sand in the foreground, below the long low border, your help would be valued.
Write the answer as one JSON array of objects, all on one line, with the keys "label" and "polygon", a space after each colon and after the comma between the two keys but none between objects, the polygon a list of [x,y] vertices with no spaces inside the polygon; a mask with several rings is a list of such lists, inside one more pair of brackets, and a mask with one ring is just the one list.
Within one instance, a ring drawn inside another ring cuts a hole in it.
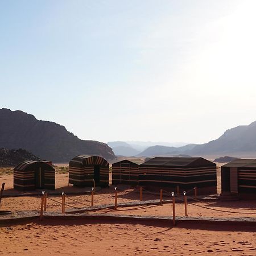
[{"label": "orange sand in the foreground, below the long low border", "polygon": [[42,221],[0,228],[3,255],[255,255],[250,226]]}]

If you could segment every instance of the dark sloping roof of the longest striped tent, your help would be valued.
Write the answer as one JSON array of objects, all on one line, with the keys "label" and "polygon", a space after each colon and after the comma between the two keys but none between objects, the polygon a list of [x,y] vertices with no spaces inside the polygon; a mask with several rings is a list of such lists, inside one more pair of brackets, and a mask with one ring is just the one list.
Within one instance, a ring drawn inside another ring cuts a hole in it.
[{"label": "dark sloping roof of the longest striped tent", "polygon": [[[142,163],[141,166],[193,166],[195,162],[207,163],[216,166],[216,164],[204,158],[162,158],[155,157]],[[199,165],[199,163],[197,164]]]}]

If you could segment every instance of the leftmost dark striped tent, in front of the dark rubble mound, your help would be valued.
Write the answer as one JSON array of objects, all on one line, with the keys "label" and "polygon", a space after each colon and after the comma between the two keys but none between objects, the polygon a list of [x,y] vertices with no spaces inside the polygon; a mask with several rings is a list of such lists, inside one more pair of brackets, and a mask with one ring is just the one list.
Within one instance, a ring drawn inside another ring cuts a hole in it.
[{"label": "leftmost dark striped tent, in front of the dark rubble mound", "polygon": [[55,189],[55,169],[44,161],[24,161],[14,168],[14,188],[21,191]]}]

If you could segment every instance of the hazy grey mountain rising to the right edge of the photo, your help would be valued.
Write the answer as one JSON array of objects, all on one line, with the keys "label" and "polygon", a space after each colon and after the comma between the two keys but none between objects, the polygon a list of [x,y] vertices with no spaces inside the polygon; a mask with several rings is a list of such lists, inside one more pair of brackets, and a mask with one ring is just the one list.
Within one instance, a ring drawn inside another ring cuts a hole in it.
[{"label": "hazy grey mountain rising to the right edge of the photo", "polygon": [[192,155],[234,155],[256,152],[256,121],[226,130],[220,138],[195,146]]}]

